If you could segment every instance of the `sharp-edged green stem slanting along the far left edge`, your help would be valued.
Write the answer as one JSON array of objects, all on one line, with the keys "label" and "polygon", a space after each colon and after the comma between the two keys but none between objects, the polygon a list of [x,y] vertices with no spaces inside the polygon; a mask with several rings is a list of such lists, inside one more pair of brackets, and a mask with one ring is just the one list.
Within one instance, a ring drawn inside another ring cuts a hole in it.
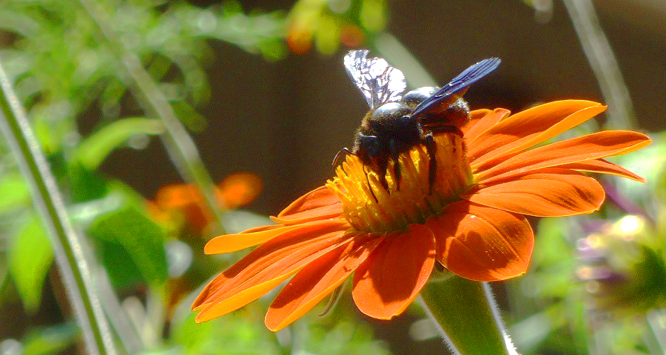
[{"label": "sharp-edged green stem slanting along the far left edge", "polygon": [[62,196],[40,144],[0,63],[0,128],[32,186],[35,205],[52,236],[54,253],[88,354],[115,354],[112,335],[93,288],[83,246],[66,215]]}]

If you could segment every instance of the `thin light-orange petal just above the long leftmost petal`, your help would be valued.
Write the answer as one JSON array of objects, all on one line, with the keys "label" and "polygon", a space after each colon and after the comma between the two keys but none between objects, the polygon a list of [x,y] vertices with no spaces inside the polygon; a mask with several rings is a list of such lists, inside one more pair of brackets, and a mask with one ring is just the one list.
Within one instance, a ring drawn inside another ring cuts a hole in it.
[{"label": "thin light-orange petal just above the long leftmost petal", "polygon": [[[280,226],[281,228],[267,228],[261,231],[242,232],[239,234],[225,234],[223,236],[216,236],[210,239],[206,246],[203,247],[203,252],[206,254],[222,254],[232,253],[244,248],[256,246],[273,238],[277,238],[285,233],[297,231],[299,234],[308,233],[311,230],[321,228],[321,224],[340,224],[341,229],[349,228],[344,227],[347,222],[344,219],[335,219],[331,221],[313,221],[304,224],[295,224],[291,226]],[[273,226],[270,226],[273,227]]]}]

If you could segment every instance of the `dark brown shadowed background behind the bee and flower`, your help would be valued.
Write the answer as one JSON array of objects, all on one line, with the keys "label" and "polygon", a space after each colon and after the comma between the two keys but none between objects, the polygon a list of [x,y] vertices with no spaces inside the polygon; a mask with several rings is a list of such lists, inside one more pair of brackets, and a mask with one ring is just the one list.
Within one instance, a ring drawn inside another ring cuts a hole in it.
[{"label": "dark brown shadowed background behind the bee and flower", "polygon": [[[214,1],[197,1],[212,4]],[[597,11],[629,87],[638,123],[665,127],[666,6],[660,1],[596,1]],[[290,1],[242,1],[244,8],[289,8]],[[516,112],[537,102],[603,102],[566,9],[555,1],[549,19],[519,1],[392,1],[388,32],[395,35],[440,84],[488,56],[501,67],[473,85],[472,109]],[[210,58],[208,125],[194,138],[215,181],[254,172],[264,190],[251,210],[270,215],[331,174],[335,152],[350,145],[366,110],[342,65],[344,50],[314,51],[268,63],[231,45],[215,45]],[[375,54],[377,55],[377,54]],[[135,167],[143,169],[133,169]],[[162,145],[148,152],[120,150],[102,170],[150,197],[180,181]],[[141,173],[141,175],[137,175]]]}]

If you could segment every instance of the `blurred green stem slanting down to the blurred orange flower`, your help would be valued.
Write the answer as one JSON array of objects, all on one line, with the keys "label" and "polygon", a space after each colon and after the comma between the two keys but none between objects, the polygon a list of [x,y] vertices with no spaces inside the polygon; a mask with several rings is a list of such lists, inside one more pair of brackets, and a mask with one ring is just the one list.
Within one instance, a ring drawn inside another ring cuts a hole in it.
[{"label": "blurred green stem slanting down to the blurred orange flower", "polygon": [[150,74],[145,71],[138,56],[123,49],[112,30],[111,21],[101,8],[102,4],[90,0],[79,0],[79,2],[119,56],[125,71],[138,89],[139,95],[136,98],[164,124],[165,134],[162,135],[162,141],[167,152],[184,179],[196,183],[201,188],[208,212],[212,212],[218,218],[219,227],[222,229],[221,221],[225,206],[220,206],[221,202],[216,196],[213,179],[210,178],[210,174],[199,156],[194,140],[176,117],[167,97],[157,87],[153,78],[150,78]]}]

